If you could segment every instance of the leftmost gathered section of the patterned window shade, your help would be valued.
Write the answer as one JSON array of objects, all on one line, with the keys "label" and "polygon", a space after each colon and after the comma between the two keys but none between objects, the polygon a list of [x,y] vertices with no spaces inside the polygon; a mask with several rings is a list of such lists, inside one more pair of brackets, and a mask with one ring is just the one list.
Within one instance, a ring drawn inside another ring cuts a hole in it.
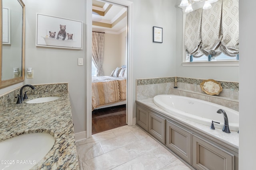
[{"label": "leftmost gathered section of the patterned window shade", "polygon": [[194,57],[201,57],[201,20],[202,8],[190,12],[186,16],[184,41],[186,51]]}]

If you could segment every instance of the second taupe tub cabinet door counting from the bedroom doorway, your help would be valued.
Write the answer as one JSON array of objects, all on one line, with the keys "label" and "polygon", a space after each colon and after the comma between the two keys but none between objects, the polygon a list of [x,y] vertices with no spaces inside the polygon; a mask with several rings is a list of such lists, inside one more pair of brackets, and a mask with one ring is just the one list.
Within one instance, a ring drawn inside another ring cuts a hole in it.
[{"label": "second taupe tub cabinet door counting from the bedroom doorway", "polygon": [[165,119],[150,112],[148,125],[148,132],[165,144]]}]

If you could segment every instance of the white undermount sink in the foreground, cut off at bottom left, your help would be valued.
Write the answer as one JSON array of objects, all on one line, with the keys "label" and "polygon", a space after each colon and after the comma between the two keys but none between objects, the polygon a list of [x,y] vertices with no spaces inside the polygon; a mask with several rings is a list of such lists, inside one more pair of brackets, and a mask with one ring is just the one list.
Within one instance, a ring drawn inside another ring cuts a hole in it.
[{"label": "white undermount sink in the foreground, cut off at bottom left", "polygon": [[28,133],[0,142],[0,170],[28,170],[52,149],[48,133]]}]

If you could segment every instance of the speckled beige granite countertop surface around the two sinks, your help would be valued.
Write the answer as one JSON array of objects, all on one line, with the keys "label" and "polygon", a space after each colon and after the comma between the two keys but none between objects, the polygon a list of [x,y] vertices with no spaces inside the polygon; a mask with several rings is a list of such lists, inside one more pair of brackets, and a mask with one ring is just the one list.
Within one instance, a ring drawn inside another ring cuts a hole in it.
[{"label": "speckled beige granite countertop surface around the two sinks", "polygon": [[40,104],[14,103],[0,111],[0,141],[25,133],[49,133],[55,143],[31,169],[79,169],[69,94],[37,94],[28,100],[47,96],[60,98]]}]

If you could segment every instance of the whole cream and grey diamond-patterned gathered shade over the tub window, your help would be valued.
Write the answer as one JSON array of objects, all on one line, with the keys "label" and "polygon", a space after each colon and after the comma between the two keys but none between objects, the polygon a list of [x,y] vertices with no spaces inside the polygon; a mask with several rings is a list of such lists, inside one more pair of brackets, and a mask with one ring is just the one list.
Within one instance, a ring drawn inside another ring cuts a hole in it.
[{"label": "whole cream and grey diamond-patterned gathered shade over the tub window", "polygon": [[238,0],[218,0],[209,10],[202,8],[186,15],[184,44],[194,57],[235,57],[239,53]]}]

